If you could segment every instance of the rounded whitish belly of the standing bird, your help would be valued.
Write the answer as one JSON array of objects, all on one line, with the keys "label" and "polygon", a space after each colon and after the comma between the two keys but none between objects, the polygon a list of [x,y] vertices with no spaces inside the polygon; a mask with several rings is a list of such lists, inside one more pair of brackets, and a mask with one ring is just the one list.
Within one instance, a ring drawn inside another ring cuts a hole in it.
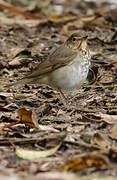
[{"label": "rounded whitish belly of the standing bird", "polygon": [[86,80],[90,65],[88,60],[81,62],[77,57],[72,64],[55,70],[50,76],[53,86],[68,91],[79,88]]}]

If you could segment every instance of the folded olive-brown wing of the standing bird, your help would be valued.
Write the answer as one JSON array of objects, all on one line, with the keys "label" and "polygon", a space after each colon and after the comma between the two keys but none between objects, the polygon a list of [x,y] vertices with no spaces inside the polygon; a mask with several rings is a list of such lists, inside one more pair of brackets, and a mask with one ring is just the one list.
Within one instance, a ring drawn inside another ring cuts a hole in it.
[{"label": "folded olive-brown wing of the standing bird", "polygon": [[39,66],[31,74],[27,75],[26,78],[34,78],[47,74],[54,69],[60,68],[69,62],[71,62],[77,56],[76,52],[67,48],[65,45],[58,47],[53,53],[49,55],[46,61],[39,64]]}]

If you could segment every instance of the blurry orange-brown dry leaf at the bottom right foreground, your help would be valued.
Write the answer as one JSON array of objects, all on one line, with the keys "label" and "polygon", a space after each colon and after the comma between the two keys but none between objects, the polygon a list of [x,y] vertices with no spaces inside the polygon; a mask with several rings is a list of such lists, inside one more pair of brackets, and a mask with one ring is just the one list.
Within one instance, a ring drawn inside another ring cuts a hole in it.
[{"label": "blurry orange-brown dry leaf at the bottom right foreground", "polygon": [[80,154],[79,156],[72,158],[71,161],[64,165],[64,169],[78,171],[86,168],[106,169],[108,166],[108,160],[97,151]]}]

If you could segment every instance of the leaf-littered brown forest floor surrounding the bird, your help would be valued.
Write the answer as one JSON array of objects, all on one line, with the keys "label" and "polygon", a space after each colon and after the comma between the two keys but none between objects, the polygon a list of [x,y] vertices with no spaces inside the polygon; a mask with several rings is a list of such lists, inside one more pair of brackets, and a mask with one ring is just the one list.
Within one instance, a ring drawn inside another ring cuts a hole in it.
[{"label": "leaf-littered brown forest floor surrounding the bird", "polygon": [[[76,108],[48,86],[4,88],[78,30],[92,60],[86,83],[68,97]],[[0,179],[116,177],[116,1],[0,0]]]}]

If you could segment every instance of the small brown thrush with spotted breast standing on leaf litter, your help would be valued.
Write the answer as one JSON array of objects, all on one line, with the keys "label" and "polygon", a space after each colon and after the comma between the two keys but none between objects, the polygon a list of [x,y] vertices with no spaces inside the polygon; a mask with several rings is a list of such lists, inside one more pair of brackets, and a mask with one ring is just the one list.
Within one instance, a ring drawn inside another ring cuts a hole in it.
[{"label": "small brown thrush with spotted breast standing on leaf litter", "polygon": [[66,91],[81,87],[87,78],[91,55],[85,33],[74,32],[49,54],[31,73],[9,86],[45,84],[59,91],[63,104],[67,105]]}]

